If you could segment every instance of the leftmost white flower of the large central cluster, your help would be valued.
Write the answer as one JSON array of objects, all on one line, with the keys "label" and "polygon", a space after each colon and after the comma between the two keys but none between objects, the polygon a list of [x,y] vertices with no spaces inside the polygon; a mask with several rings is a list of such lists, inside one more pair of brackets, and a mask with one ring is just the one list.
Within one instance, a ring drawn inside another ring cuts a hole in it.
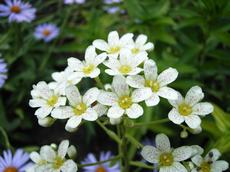
[{"label": "leftmost white flower of the large central cluster", "polygon": [[66,103],[66,98],[61,97],[54,90],[50,89],[44,81],[33,85],[31,95],[33,99],[29,101],[29,105],[33,108],[39,108],[36,110],[35,115],[41,119],[47,117],[54,108]]}]

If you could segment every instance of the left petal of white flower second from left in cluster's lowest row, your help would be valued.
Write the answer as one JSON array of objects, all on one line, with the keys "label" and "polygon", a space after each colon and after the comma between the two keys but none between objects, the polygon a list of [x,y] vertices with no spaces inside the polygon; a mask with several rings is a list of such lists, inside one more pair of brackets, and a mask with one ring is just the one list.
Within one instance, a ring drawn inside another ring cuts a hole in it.
[{"label": "left petal of white flower second from left in cluster's lowest row", "polygon": [[70,106],[55,108],[51,113],[51,116],[57,119],[66,119],[73,115],[73,109]]}]

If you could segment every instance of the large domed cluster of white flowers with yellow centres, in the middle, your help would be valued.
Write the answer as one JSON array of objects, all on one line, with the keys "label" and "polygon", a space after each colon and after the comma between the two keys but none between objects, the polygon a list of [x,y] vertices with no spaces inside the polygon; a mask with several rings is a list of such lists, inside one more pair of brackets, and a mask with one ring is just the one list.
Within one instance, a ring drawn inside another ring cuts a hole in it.
[{"label": "large domed cluster of white flowers with yellow centres, in the middle", "polygon": [[[33,86],[30,106],[39,108],[35,115],[39,124],[48,126],[56,119],[67,119],[66,130],[75,131],[82,120],[95,121],[106,114],[111,123],[123,116],[131,119],[144,114],[139,104],[156,106],[160,97],[173,106],[169,119],[176,124],[185,121],[189,127],[200,127],[198,117],[213,111],[210,103],[199,103],[204,97],[200,87],[192,87],[185,99],[168,85],[176,80],[178,71],[172,67],[158,74],[154,60],[148,51],[154,48],[146,35],[133,39],[132,33],[119,36],[117,31],[108,35],[108,40],[97,39],[85,51],[84,60],[70,57],[64,71],[52,74],[54,81],[39,82]],[[113,77],[110,89],[90,88],[82,95],[78,84],[83,78],[99,80],[100,66]],[[77,85],[77,86],[76,86]]]}]

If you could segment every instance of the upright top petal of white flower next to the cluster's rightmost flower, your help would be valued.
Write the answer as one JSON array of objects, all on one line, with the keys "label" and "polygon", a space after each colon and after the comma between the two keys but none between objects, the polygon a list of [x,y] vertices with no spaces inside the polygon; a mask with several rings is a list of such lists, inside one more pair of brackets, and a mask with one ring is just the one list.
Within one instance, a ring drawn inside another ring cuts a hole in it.
[{"label": "upright top petal of white flower next to the cluster's rightmost flower", "polygon": [[146,60],[144,63],[144,73],[147,80],[155,81],[157,79],[157,66],[152,59]]}]

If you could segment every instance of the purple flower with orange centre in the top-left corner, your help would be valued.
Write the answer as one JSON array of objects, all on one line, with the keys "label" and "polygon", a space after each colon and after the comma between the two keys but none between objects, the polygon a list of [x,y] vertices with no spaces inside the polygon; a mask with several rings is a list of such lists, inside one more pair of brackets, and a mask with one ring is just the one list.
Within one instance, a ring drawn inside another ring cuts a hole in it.
[{"label": "purple flower with orange centre in the top-left corner", "polygon": [[35,18],[36,9],[21,0],[5,0],[0,5],[0,17],[8,16],[9,22],[31,22]]}]

